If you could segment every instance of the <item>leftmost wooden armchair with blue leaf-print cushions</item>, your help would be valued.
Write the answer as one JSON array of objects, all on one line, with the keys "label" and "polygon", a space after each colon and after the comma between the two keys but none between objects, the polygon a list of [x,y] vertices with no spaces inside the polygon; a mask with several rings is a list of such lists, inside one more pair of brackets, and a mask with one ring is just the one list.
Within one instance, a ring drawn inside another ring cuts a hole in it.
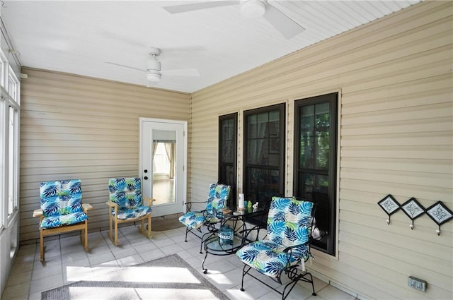
[{"label": "leftmost wooden armchair with blue leaf-print cushions", "polygon": [[44,262],[44,237],[80,230],[80,241],[88,251],[88,210],[93,207],[81,203],[80,179],[46,181],[40,184],[41,208],[33,211],[40,217],[40,261]]}]

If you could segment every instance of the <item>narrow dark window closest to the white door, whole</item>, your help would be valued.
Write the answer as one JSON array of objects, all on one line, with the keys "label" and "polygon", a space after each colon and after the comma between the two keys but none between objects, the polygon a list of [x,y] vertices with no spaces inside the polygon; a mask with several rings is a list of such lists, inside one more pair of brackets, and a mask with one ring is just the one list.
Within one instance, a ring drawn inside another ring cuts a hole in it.
[{"label": "narrow dark window closest to the white door, whole", "polygon": [[231,186],[229,208],[236,207],[238,114],[219,116],[219,183]]}]

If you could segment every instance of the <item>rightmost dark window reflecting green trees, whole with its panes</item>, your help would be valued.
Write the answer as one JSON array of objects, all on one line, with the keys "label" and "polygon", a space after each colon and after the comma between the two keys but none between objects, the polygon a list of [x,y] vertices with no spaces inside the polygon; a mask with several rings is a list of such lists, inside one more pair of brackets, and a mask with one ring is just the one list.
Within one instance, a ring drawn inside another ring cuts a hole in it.
[{"label": "rightmost dark window reflecting green trees, whole with its panes", "polygon": [[294,194],[316,205],[314,248],[335,254],[336,93],[297,100],[294,116]]}]

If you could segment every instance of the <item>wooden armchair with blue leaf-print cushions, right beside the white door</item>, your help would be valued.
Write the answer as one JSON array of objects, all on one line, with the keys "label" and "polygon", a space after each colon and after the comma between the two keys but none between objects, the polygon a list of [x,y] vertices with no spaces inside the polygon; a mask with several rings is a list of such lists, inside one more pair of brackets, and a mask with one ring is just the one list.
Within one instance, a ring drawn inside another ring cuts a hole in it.
[{"label": "wooden armchair with blue leaf-print cushions, right beside the white door", "polygon": [[[108,236],[115,246],[118,245],[118,224],[141,221],[140,232],[151,237],[151,203],[154,199],[147,198],[148,206],[142,202],[142,181],[139,177],[113,178],[108,181],[110,200],[108,205]],[[148,220],[148,232],[145,232],[144,220]],[[113,236],[113,228],[115,236]]]}]

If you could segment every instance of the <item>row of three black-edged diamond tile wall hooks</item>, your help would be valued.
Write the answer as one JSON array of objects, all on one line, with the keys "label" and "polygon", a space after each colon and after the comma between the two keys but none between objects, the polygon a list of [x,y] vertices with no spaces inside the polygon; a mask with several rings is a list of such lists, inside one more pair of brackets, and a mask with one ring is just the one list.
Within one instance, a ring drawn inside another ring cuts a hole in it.
[{"label": "row of three black-edged diamond tile wall hooks", "polygon": [[417,199],[410,198],[405,203],[400,205],[390,194],[385,196],[377,204],[389,215],[389,219],[386,220],[387,224],[390,224],[390,216],[397,212],[400,208],[403,212],[411,219],[412,224],[409,225],[413,229],[413,220],[420,217],[424,213],[433,220],[437,226],[437,235],[440,235],[440,225],[453,219],[453,212],[445,206],[444,203],[437,201],[437,203],[431,205],[429,208],[423,208],[423,205],[418,203]]}]

